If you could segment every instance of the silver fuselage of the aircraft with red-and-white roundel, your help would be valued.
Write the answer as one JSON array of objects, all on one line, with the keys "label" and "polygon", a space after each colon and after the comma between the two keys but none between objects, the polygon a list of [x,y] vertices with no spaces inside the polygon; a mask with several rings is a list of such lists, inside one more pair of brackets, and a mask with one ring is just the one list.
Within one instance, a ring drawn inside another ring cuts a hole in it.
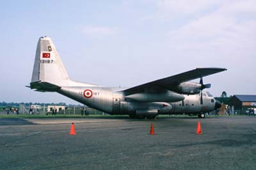
[{"label": "silver fuselage of the aircraft with red-and-white roundel", "polygon": [[[213,97],[203,92],[204,104],[200,104],[200,95],[183,95],[184,100],[179,102],[136,102],[125,98],[123,88],[104,87],[62,87],[57,92],[77,102],[88,105],[109,114],[194,114],[214,111]],[[86,97],[84,91],[92,91]]]}]

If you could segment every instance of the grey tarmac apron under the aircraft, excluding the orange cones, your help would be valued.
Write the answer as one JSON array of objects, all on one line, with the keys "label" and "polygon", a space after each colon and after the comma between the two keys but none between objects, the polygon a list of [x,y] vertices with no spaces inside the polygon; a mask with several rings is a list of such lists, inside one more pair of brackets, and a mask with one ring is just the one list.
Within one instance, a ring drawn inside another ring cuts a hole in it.
[{"label": "grey tarmac apron under the aircraft, excluding the orange cones", "polygon": [[252,117],[0,119],[0,169],[256,169],[255,144]]}]

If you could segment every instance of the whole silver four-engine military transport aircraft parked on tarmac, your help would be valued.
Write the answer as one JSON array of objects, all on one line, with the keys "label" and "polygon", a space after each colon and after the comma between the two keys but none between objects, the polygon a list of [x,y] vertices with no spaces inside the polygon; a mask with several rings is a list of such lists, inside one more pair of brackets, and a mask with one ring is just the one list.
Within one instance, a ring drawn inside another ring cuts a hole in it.
[{"label": "whole silver four-engine military transport aircraft parked on tarmac", "polygon": [[[37,44],[31,89],[52,91],[109,114],[128,114],[131,118],[155,118],[158,114],[197,114],[220,108],[221,104],[208,92],[211,84],[202,77],[225,68],[196,68],[132,88],[107,88],[95,84],[72,81],[52,43],[40,37]],[[200,82],[188,82],[199,79]]]}]

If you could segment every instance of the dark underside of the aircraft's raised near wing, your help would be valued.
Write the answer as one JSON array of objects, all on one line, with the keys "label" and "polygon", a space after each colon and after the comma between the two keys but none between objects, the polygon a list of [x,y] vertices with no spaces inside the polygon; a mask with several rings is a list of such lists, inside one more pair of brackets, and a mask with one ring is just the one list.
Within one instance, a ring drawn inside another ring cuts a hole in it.
[{"label": "dark underside of the aircraft's raised near wing", "polygon": [[145,88],[157,87],[169,89],[172,91],[172,88],[179,85],[182,82],[191,81],[193,79],[198,79],[200,77],[205,77],[207,75],[211,75],[218,72],[223,72],[227,70],[226,68],[196,68],[194,70],[190,70],[188,72],[179,73],[177,75],[172,75],[170,77],[166,77],[163,79],[158,79],[156,81],[147,82],[145,84],[141,84],[139,86],[134,86],[129,89],[125,89],[125,95],[131,95],[134,93],[143,92]]}]

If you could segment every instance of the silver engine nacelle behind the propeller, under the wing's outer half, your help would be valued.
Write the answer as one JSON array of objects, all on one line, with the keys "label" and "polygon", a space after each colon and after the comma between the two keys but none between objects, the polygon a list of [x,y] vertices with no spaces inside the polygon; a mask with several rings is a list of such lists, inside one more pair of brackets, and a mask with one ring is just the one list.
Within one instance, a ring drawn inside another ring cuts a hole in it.
[{"label": "silver engine nacelle behind the propeller, under the wing's outer half", "polygon": [[177,86],[177,92],[186,95],[195,95],[200,93],[202,85],[196,82],[182,82]]}]

